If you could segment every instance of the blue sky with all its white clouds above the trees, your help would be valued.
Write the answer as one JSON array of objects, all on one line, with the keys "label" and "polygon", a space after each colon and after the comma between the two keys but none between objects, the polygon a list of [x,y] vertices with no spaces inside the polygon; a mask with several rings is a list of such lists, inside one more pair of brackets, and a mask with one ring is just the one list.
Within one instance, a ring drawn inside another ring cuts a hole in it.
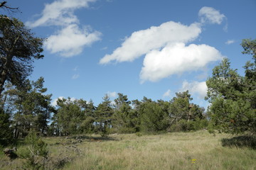
[{"label": "blue sky with all its white clouds above the trees", "polygon": [[9,13],[45,38],[31,80],[48,94],[92,99],[118,93],[170,101],[188,90],[207,107],[206,80],[223,57],[244,74],[251,56],[240,43],[256,38],[255,0],[10,0]]}]

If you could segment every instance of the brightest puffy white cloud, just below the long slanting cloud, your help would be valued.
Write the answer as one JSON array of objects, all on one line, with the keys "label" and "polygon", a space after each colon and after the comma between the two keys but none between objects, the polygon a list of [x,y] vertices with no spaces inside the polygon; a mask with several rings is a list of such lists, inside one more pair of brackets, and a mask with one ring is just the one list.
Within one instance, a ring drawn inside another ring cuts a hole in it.
[{"label": "brightest puffy white cloud, just below the long slanting cloud", "polygon": [[158,81],[172,74],[203,69],[209,62],[221,60],[222,57],[218,50],[208,45],[168,45],[161,51],[152,50],[146,55],[140,79],[142,83],[146,80]]}]

